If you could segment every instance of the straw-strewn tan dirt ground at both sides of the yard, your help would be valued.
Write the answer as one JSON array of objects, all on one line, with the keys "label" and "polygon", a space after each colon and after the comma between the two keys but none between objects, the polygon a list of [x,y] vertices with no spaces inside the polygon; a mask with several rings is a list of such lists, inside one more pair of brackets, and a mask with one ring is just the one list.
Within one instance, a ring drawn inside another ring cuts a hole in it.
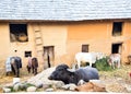
[{"label": "straw-strewn tan dirt ground at both sides of the yard", "polygon": [[[38,72],[43,71],[39,69]],[[34,77],[32,73],[27,73],[25,68],[20,70],[21,72],[21,81],[26,81],[27,79]],[[106,84],[106,89],[108,92],[117,92],[117,93],[128,93],[124,85],[128,84],[131,86],[131,64],[122,66],[120,69],[115,69],[112,71],[99,71],[100,80]],[[2,92],[2,86],[12,83],[13,75],[5,75],[4,70],[0,70],[0,92]]]}]

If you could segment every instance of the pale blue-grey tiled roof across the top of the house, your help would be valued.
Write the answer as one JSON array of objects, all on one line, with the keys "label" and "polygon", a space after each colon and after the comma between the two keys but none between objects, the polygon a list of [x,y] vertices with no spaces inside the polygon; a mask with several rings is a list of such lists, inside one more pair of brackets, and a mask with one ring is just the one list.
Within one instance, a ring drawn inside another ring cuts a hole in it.
[{"label": "pale blue-grey tiled roof across the top of the house", "polygon": [[131,0],[0,0],[0,20],[131,19]]}]

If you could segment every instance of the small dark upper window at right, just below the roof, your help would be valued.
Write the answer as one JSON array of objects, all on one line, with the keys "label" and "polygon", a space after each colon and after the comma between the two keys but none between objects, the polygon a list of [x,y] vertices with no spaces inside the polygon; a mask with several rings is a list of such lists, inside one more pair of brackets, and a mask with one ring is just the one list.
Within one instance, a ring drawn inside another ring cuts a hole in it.
[{"label": "small dark upper window at right, just below the roof", "polygon": [[122,22],[114,22],[112,36],[120,36],[122,33]]}]

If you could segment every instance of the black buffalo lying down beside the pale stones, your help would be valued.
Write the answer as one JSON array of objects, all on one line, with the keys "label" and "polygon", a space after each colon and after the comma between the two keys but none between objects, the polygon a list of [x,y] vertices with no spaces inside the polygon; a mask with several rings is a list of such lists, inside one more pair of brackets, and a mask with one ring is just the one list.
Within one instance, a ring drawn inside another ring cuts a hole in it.
[{"label": "black buffalo lying down beside the pale stones", "polygon": [[74,83],[78,85],[80,80],[88,82],[90,80],[98,80],[98,71],[95,68],[85,67],[75,71],[70,71],[67,64],[60,64],[48,78],[49,80],[62,81],[64,84]]}]

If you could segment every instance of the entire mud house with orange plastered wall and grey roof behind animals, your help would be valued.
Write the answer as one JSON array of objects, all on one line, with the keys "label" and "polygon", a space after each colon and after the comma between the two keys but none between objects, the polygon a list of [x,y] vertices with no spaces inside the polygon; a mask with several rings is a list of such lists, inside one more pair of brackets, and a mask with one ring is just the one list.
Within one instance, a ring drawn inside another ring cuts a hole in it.
[{"label": "entire mud house with orange plastered wall and grey roof behind animals", "polygon": [[17,55],[24,66],[28,55],[45,68],[71,64],[79,51],[120,52],[124,63],[131,54],[131,2],[0,1],[0,61]]}]

